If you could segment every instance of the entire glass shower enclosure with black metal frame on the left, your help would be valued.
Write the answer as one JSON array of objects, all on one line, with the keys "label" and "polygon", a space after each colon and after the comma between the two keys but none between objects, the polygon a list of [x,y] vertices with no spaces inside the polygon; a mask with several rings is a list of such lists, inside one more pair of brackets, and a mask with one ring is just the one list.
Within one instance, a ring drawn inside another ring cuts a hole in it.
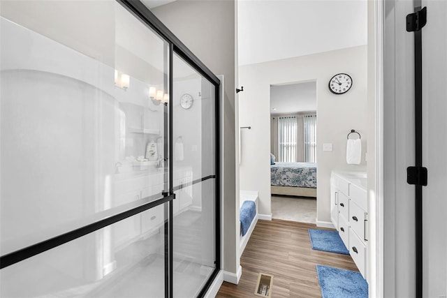
[{"label": "entire glass shower enclosure with black metal frame on the left", "polygon": [[0,12],[0,296],[203,296],[217,77],[139,1]]}]

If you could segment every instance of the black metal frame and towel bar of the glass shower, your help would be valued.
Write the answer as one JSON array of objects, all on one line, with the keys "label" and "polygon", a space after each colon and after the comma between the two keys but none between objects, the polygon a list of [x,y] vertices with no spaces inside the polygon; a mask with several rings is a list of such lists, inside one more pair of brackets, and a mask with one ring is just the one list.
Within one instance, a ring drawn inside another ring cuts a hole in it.
[{"label": "black metal frame and towel bar of the glass shower", "polygon": [[[152,30],[159,34],[163,40],[168,43],[169,47],[169,94],[173,94],[173,54],[177,54],[179,57],[184,59],[187,64],[189,64],[192,68],[194,68],[200,75],[203,75],[211,84],[214,86],[214,124],[215,124],[215,174],[207,177],[203,177],[202,179],[198,179],[201,182],[207,179],[215,179],[215,193],[214,193],[214,206],[215,206],[215,214],[214,214],[214,270],[212,274],[206,281],[203,288],[200,289],[198,297],[203,297],[207,290],[212,285],[214,278],[216,278],[219,270],[221,269],[221,210],[220,210],[220,202],[221,202],[221,185],[220,185],[220,169],[221,169],[221,158],[220,158],[220,111],[219,111],[219,89],[220,89],[220,80],[219,78],[212,73],[212,71],[203,64],[142,2],[140,1],[130,1],[130,0],[116,0],[120,3],[124,8],[129,10],[135,17],[137,17],[141,22],[147,24]],[[172,96],[171,96],[172,98]],[[146,204],[140,205],[138,207],[133,207],[119,214],[115,214],[114,216],[108,216],[107,212],[105,212],[104,216],[101,219],[98,219],[94,223],[89,225],[85,225],[81,228],[71,230],[64,234],[60,234],[57,237],[53,237],[51,239],[47,239],[45,241],[41,241],[37,244],[27,246],[18,251],[14,251],[12,253],[8,253],[6,255],[1,255],[0,257],[0,269],[6,268],[10,265],[14,265],[22,260],[26,260],[27,258],[31,258],[34,255],[38,255],[39,253],[43,253],[45,251],[49,251],[52,248],[56,248],[57,246],[61,246],[62,244],[66,244],[70,241],[78,239],[82,236],[90,234],[96,230],[100,230],[101,228],[105,228],[113,223],[117,223],[122,221],[130,216],[134,216],[135,214],[140,214],[142,211],[146,211],[148,209],[152,209],[154,207],[159,206],[160,204],[168,203],[168,208],[165,208],[165,296],[173,297],[173,200],[175,199],[174,194],[174,186],[173,186],[173,105],[169,104],[165,108],[165,112],[168,113],[168,127],[165,124],[165,131],[168,130],[168,140],[166,140],[169,144],[168,146],[168,161],[169,164],[169,177],[168,177],[168,185],[169,190],[163,192],[163,198],[159,198],[153,202],[147,202]],[[166,123],[166,122],[165,122]],[[166,146],[165,144],[165,150]],[[165,205],[166,206],[166,205]],[[101,216],[101,215],[100,215]]]}]

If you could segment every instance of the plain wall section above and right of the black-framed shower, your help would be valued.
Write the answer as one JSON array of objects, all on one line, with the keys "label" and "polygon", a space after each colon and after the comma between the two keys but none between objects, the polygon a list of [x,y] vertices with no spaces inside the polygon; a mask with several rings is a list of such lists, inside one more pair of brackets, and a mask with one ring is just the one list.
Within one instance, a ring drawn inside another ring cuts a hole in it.
[{"label": "plain wall section above and right of the black-framed shower", "polygon": [[239,186],[235,147],[235,80],[237,79],[237,35],[235,1],[175,1],[154,8],[152,12],[212,72],[225,77],[223,105],[223,269],[236,274],[239,263]]}]

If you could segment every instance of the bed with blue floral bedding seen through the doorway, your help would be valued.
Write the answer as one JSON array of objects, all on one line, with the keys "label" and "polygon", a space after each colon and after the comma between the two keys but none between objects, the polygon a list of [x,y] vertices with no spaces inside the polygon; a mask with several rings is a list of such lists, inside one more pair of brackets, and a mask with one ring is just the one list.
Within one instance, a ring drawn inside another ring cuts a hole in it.
[{"label": "bed with blue floral bedding seen through the doorway", "polygon": [[316,198],[316,163],[270,165],[272,195]]}]

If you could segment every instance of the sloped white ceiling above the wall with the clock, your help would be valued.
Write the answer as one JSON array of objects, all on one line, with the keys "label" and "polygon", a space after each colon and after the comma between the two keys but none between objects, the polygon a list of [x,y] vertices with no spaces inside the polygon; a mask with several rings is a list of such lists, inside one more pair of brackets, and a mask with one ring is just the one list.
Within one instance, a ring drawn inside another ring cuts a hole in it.
[{"label": "sloped white ceiling above the wall with the clock", "polygon": [[367,44],[366,0],[238,0],[239,65]]}]

